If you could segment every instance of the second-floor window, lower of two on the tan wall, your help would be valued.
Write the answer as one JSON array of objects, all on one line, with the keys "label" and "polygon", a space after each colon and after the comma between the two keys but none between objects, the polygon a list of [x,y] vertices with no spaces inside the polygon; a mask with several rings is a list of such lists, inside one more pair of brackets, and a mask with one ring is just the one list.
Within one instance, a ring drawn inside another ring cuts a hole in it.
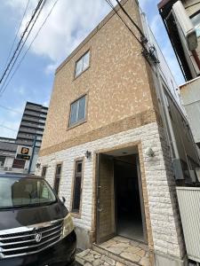
[{"label": "second-floor window, lower of two on the tan wall", "polygon": [[85,96],[71,104],[69,126],[85,120]]}]

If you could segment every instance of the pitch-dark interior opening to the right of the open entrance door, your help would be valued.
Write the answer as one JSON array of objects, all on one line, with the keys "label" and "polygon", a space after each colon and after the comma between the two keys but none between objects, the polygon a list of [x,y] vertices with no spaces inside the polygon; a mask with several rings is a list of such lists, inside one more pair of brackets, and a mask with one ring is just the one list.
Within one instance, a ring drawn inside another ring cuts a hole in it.
[{"label": "pitch-dark interior opening to the right of the open entrance door", "polygon": [[144,241],[140,207],[140,186],[135,155],[114,160],[116,234]]}]

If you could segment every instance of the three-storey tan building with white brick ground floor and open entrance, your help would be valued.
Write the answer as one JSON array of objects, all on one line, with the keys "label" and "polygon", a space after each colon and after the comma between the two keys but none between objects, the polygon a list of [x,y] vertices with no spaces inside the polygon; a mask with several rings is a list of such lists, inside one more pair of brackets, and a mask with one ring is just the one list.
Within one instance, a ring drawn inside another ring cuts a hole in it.
[{"label": "three-storey tan building with white brick ground floor and open entrance", "polygon": [[137,1],[121,3],[147,49],[113,11],[59,66],[36,174],[66,198],[79,247],[120,235],[149,252],[126,254],[133,263],[186,265],[176,182],[197,182],[199,158],[145,15]]}]

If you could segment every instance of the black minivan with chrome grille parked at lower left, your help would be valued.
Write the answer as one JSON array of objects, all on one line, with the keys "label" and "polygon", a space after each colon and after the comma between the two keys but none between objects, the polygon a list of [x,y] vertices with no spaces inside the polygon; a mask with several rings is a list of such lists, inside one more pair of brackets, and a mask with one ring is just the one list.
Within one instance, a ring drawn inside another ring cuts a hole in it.
[{"label": "black minivan with chrome grille parked at lower left", "polygon": [[71,266],[76,233],[40,176],[0,174],[0,266]]}]

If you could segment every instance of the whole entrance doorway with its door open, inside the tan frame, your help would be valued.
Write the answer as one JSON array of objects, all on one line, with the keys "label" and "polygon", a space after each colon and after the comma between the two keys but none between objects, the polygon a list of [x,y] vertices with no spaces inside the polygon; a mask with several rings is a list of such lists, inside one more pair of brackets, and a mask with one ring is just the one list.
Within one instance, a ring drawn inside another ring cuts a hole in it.
[{"label": "whole entrance doorway with its door open, inside the tan frame", "polygon": [[137,147],[97,158],[97,244],[117,235],[147,243]]}]

